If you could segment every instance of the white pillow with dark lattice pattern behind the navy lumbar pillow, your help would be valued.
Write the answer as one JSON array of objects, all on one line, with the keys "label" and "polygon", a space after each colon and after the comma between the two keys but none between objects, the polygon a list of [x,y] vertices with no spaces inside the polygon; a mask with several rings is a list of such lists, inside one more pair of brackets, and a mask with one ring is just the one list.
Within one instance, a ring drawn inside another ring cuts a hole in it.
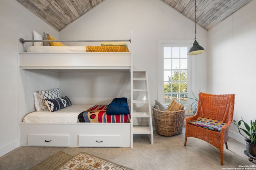
[{"label": "white pillow with dark lattice pattern behind the navy lumbar pillow", "polygon": [[48,111],[48,107],[44,99],[60,98],[60,89],[56,88],[52,90],[40,90],[38,93],[38,98],[40,100],[40,107],[42,111]]}]

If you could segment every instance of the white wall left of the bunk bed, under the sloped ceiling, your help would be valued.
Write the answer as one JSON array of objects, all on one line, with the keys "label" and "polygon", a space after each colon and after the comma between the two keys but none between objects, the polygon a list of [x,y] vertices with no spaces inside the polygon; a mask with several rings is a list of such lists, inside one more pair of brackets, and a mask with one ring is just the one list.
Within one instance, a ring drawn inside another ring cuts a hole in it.
[{"label": "white wall left of the bunk bed, under the sloped ceiling", "polygon": [[[18,31],[32,39],[32,31],[54,30],[15,0],[0,6],[0,156],[19,146],[18,141]],[[26,46],[31,43],[27,43]]]}]

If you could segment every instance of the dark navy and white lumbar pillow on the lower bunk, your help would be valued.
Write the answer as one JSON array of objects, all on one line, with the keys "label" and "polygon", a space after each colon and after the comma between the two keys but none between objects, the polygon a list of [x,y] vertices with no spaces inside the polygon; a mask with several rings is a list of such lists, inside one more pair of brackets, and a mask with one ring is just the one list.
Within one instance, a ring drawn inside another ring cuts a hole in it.
[{"label": "dark navy and white lumbar pillow on the lower bunk", "polygon": [[45,99],[45,101],[50,112],[54,112],[56,110],[63,109],[72,105],[70,99],[67,96],[58,99]]}]

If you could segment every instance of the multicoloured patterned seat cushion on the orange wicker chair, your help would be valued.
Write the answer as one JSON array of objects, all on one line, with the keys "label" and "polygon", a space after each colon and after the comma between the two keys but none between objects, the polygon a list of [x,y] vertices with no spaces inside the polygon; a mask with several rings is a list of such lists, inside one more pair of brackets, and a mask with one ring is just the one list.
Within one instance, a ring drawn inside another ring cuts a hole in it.
[{"label": "multicoloured patterned seat cushion on the orange wicker chair", "polygon": [[188,123],[217,132],[220,132],[222,127],[226,125],[226,123],[223,121],[218,121],[207,117],[198,117],[196,120],[188,121]]}]

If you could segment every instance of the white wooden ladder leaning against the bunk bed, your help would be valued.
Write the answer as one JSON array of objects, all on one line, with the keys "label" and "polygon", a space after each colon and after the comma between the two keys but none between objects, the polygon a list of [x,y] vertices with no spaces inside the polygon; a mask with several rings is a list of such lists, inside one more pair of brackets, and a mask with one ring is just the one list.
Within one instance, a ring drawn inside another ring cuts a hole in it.
[{"label": "white wooden ladder leaning against the bunk bed", "polygon": [[147,71],[133,71],[132,85],[132,133],[148,134],[154,144]]}]

